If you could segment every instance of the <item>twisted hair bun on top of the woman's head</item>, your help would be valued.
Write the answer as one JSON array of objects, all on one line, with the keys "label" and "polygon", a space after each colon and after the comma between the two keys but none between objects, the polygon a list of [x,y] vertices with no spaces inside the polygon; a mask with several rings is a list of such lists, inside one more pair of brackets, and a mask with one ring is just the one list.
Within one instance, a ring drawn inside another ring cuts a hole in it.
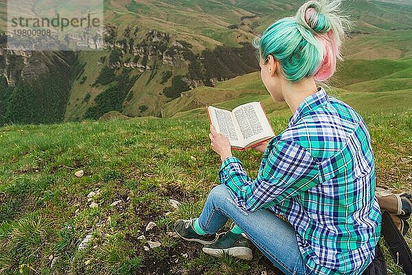
[{"label": "twisted hair bun on top of the woman's head", "polygon": [[323,10],[325,10],[325,7],[322,1],[308,1],[297,11],[297,23],[319,34],[329,32],[332,24],[327,14],[323,13]]}]

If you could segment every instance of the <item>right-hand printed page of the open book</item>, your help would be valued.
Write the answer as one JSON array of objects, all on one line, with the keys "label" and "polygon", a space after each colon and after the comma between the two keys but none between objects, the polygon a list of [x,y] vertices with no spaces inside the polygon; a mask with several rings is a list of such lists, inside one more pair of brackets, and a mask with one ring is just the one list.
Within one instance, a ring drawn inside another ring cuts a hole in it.
[{"label": "right-hand printed page of the open book", "polygon": [[275,135],[260,102],[242,104],[233,109],[232,113],[246,144]]}]

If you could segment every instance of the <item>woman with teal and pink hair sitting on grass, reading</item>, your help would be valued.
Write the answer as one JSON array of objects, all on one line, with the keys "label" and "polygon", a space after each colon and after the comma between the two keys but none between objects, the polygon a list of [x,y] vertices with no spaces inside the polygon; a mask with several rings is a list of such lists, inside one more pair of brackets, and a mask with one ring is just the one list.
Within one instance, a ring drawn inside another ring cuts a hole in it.
[{"label": "woman with teal and pink hair sitting on grass, reading", "polygon": [[[293,115],[282,133],[255,146],[264,153],[255,180],[211,125],[221,185],[198,219],[175,224],[183,239],[205,244],[205,253],[251,259],[255,245],[286,274],[362,274],[374,259],[381,213],[367,126],[315,83],[330,78],[341,59],[348,21],[340,3],[308,1],[253,40],[266,89]],[[236,225],[218,239],[228,219]]]}]

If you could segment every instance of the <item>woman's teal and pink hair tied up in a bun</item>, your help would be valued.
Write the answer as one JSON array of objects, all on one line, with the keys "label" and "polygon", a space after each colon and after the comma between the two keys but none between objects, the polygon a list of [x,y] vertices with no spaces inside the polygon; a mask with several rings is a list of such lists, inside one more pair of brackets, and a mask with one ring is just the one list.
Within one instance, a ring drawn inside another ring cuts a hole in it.
[{"label": "woman's teal and pink hair tied up in a bun", "polygon": [[339,13],[341,0],[327,3],[312,0],[299,8],[296,17],[286,17],[271,24],[252,41],[258,58],[264,63],[271,54],[279,61],[284,77],[292,82],[314,76],[326,80],[334,74],[336,58],[345,34],[347,17]]}]

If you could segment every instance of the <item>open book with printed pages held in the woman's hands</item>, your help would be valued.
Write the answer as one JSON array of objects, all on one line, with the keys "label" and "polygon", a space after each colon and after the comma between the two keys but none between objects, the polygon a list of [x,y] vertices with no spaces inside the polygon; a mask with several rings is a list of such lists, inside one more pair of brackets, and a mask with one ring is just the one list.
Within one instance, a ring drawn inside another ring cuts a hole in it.
[{"label": "open book with printed pages held in the woman's hands", "polygon": [[275,136],[261,102],[242,104],[232,111],[207,106],[209,122],[229,138],[231,148],[245,150]]}]

